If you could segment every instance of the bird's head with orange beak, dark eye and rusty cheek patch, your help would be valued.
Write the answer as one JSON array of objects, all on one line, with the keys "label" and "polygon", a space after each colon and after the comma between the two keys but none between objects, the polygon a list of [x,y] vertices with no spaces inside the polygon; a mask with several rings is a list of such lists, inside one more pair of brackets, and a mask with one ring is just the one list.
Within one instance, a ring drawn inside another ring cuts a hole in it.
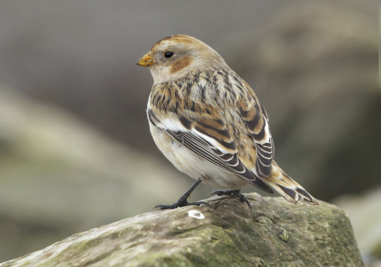
[{"label": "bird's head with orange beak, dark eye and rusty cheek patch", "polygon": [[226,67],[225,61],[213,48],[186,35],[161,39],[136,64],[151,70],[154,84],[176,80],[197,70]]}]

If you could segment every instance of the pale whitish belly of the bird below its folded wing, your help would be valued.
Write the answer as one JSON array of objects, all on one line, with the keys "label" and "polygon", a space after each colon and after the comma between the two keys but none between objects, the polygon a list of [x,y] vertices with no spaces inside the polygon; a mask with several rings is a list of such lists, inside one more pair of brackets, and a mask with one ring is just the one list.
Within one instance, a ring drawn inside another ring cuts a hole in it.
[{"label": "pale whitish belly of the bird below its folded wing", "polygon": [[180,172],[220,189],[240,189],[249,185],[243,179],[235,177],[188,150],[159,127],[150,123],[149,128],[159,150]]}]

